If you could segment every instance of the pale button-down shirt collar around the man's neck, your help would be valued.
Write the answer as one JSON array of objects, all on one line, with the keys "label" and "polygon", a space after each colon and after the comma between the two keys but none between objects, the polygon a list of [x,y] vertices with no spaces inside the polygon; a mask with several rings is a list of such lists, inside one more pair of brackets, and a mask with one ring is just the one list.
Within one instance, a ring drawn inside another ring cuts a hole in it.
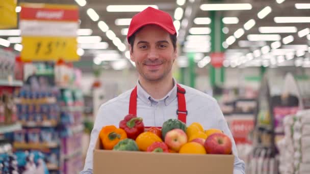
[{"label": "pale button-down shirt collar around the man's neck", "polygon": [[173,78],[173,88],[168,92],[168,94],[163,97],[162,99],[156,100],[153,99],[140,85],[139,80],[137,81],[137,95],[139,99],[141,99],[145,104],[151,106],[151,100],[153,101],[163,101],[165,102],[165,105],[169,105],[175,98],[176,98],[176,80]]}]

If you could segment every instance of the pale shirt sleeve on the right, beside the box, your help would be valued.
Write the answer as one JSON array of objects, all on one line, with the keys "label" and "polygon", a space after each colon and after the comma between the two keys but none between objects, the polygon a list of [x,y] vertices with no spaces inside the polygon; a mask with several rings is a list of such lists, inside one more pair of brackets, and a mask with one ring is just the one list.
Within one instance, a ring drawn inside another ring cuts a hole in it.
[{"label": "pale shirt sleeve on the right, beside the box", "polygon": [[238,157],[238,151],[236,147],[235,140],[233,138],[233,135],[231,134],[227,122],[224,118],[224,115],[218,105],[217,102],[215,102],[215,109],[216,109],[216,115],[218,117],[218,128],[224,132],[224,134],[228,135],[229,138],[231,139],[231,143],[233,145],[233,154],[235,156],[235,161],[234,161],[234,174],[245,174],[245,164],[244,161],[241,160]]}]

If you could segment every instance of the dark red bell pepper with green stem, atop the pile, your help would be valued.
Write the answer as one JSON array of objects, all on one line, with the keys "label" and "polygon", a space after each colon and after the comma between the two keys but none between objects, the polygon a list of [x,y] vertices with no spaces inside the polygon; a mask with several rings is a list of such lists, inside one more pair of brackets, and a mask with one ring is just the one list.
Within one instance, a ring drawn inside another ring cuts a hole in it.
[{"label": "dark red bell pepper with green stem, atop the pile", "polygon": [[124,120],[119,122],[119,128],[125,130],[127,137],[136,139],[137,136],[144,132],[144,124],[142,118],[133,114],[125,116]]}]

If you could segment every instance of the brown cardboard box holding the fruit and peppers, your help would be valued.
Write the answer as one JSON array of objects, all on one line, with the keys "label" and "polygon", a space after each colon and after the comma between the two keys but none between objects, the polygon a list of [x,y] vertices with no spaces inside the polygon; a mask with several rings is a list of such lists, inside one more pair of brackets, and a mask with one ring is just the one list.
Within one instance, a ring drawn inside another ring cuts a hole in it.
[{"label": "brown cardboard box holding the fruit and peppers", "polygon": [[191,155],[102,150],[99,138],[93,151],[93,173],[233,174],[234,155]]}]

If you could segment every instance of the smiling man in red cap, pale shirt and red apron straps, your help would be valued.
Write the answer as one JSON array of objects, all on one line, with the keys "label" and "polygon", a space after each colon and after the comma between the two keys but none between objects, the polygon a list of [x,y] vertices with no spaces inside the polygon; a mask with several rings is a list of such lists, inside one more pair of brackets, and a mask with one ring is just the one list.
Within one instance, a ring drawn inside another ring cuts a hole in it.
[{"label": "smiling man in red cap, pale shirt and red apron straps", "polygon": [[177,84],[172,77],[177,52],[171,16],[148,7],[133,17],[127,40],[131,60],[139,72],[137,86],[100,106],[81,173],[92,173],[93,148],[101,128],[106,125],[118,127],[128,112],[142,117],[145,126],[160,127],[168,119],[179,119],[187,125],[199,122],[204,129],[223,130],[233,142],[234,174],[244,173],[244,162],[238,158],[235,141],[216,100]]}]

